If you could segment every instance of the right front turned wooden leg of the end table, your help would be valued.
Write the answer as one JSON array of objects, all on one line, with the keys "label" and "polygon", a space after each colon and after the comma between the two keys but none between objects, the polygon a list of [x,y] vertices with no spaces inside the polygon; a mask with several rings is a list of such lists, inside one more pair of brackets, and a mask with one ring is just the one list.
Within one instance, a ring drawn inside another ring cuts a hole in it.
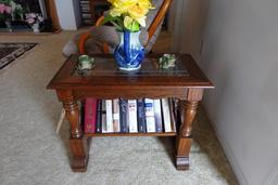
[{"label": "right front turned wooden leg of the end table", "polygon": [[181,101],[181,125],[176,140],[176,166],[178,170],[189,169],[192,121],[195,117],[198,101]]}]

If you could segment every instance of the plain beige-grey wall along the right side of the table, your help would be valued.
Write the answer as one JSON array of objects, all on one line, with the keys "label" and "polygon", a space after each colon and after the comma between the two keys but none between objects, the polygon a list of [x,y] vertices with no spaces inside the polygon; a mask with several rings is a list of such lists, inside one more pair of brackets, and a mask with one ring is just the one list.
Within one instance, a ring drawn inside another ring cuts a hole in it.
[{"label": "plain beige-grey wall along the right side of the table", "polygon": [[278,1],[185,2],[178,51],[216,87],[204,105],[240,184],[278,184]]}]

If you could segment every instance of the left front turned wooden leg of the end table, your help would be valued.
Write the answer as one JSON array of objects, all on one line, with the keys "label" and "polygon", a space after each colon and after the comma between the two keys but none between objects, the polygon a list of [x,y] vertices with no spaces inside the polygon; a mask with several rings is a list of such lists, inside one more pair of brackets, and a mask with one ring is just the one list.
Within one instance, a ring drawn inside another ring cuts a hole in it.
[{"label": "left front turned wooden leg of the end table", "polygon": [[74,172],[86,172],[90,141],[83,134],[78,104],[73,98],[71,91],[60,91],[58,94],[63,102],[65,116],[71,123],[70,149],[72,151],[72,170]]}]

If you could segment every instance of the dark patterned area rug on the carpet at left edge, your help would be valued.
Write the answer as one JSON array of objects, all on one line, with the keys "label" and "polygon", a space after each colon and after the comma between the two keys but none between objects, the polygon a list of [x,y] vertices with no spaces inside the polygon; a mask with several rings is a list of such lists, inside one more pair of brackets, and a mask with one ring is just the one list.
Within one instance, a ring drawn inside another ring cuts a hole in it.
[{"label": "dark patterned area rug on the carpet at left edge", "polygon": [[0,43],[0,69],[33,49],[37,43]]}]

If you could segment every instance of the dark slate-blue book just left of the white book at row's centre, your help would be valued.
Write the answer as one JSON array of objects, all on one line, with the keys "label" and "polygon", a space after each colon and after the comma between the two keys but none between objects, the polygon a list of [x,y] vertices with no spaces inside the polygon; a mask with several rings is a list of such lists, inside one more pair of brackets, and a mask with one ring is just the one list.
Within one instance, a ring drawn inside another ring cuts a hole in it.
[{"label": "dark slate-blue book just left of the white book at row's centre", "polygon": [[127,100],[119,98],[119,125],[122,133],[128,133],[128,122],[127,122]]}]

